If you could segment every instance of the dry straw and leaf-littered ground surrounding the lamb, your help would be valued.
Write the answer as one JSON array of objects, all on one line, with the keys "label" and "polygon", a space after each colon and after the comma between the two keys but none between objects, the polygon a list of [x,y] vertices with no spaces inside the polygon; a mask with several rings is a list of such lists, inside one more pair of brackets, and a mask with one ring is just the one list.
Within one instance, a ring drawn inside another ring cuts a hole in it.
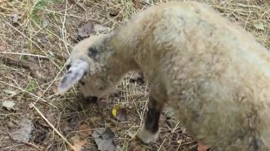
[{"label": "dry straw and leaf-littered ground surrounding the lamb", "polygon": [[[119,84],[119,91],[97,104],[82,101],[77,86],[65,96],[55,94],[83,22],[91,24],[87,29],[93,34],[107,33],[142,9],[164,2],[0,0],[0,150],[97,150],[100,144],[94,133],[104,128],[112,130],[110,136],[114,137],[117,150],[196,150],[197,142],[171,116],[169,105],[161,116],[157,142],[144,145],[134,138],[144,121],[148,102],[147,83],[141,76],[128,74]],[[203,2],[270,48],[269,0]],[[8,109],[4,101],[15,105]],[[117,105],[126,111],[122,121],[112,115]],[[30,138],[12,140],[22,119],[31,123]]]}]

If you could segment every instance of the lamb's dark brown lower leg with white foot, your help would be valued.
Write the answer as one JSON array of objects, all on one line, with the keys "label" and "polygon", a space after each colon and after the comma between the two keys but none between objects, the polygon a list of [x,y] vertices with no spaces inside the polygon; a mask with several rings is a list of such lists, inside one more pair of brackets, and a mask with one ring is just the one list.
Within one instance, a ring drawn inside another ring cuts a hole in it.
[{"label": "lamb's dark brown lower leg with white foot", "polygon": [[148,111],[146,113],[146,122],[144,127],[139,130],[137,138],[139,138],[144,143],[156,142],[158,139],[158,121],[161,116],[161,110],[165,101],[156,101],[152,96],[149,98]]}]

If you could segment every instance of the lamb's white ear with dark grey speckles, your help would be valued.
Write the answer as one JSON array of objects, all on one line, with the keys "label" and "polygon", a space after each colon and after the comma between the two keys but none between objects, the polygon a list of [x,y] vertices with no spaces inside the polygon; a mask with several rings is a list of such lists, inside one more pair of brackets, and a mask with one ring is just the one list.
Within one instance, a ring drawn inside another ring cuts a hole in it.
[{"label": "lamb's white ear with dark grey speckles", "polygon": [[65,94],[71,86],[77,84],[82,76],[88,72],[89,64],[83,60],[74,60],[58,85],[58,93]]}]

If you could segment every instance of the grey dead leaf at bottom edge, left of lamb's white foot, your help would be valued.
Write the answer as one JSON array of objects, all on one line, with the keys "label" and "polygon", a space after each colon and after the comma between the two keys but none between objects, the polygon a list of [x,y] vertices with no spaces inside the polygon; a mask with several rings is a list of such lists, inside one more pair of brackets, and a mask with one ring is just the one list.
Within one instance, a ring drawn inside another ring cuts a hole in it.
[{"label": "grey dead leaf at bottom edge, left of lamb's white foot", "polygon": [[114,142],[114,133],[108,128],[106,130],[95,130],[92,137],[97,144],[98,150],[114,151],[117,149]]}]

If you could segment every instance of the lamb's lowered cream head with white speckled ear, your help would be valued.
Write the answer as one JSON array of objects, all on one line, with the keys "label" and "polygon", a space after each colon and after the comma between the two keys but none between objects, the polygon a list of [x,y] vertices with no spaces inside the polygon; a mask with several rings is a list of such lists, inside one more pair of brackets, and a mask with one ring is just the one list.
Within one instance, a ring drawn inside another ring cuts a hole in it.
[{"label": "lamb's lowered cream head with white speckled ear", "polygon": [[64,94],[79,84],[85,99],[97,100],[114,90],[106,62],[113,53],[107,46],[108,38],[109,35],[91,35],[75,45],[65,64],[68,72],[60,80],[58,93]]}]

